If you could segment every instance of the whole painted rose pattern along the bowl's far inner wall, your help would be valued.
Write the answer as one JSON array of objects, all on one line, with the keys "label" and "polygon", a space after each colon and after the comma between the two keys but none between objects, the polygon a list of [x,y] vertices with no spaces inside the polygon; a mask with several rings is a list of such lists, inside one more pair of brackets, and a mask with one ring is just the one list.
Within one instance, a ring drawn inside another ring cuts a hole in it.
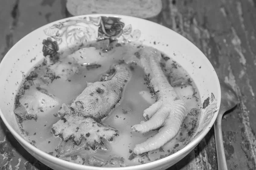
[{"label": "whole painted rose pattern along the bowl's far inner wall", "polygon": [[83,17],[79,20],[67,20],[44,29],[48,36],[43,40],[43,54],[57,58],[67,49],[84,46],[105,39],[119,41],[137,41],[140,30],[125,26],[118,17]]}]

